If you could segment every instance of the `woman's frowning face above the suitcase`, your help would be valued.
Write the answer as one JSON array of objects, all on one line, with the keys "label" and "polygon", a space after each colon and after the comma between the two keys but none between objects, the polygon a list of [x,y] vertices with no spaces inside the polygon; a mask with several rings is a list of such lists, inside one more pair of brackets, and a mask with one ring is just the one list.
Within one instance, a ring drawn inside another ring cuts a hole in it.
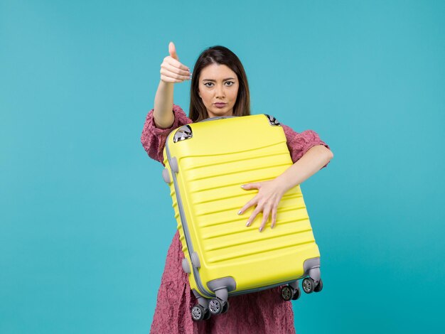
[{"label": "woman's frowning face above the suitcase", "polygon": [[227,65],[211,64],[199,76],[198,95],[208,117],[232,116],[237,102],[238,77]]}]

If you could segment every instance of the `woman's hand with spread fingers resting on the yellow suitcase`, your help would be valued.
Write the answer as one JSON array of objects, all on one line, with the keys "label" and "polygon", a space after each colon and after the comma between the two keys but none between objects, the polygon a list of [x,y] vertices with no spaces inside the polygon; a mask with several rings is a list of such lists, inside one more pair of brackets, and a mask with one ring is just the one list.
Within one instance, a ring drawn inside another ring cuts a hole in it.
[{"label": "woman's hand with spread fingers resting on the yellow suitcase", "polygon": [[261,232],[264,230],[264,226],[266,225],[269,215],[272,212],[271,228],[274,228],[275,223],[277,222],[278,204],[285,193],[282,184],[279,183],[277,179],[274,179],[271,181],[247,183],[245,185],[241,185],[241,188],[244,190],[258,189],[257,195],[252,198],[252,200],[247,202],[246,205],[243,206],[238,212],[238,215],[242,215],[245,210],[253,205],[257,205],[257,207],[253,210],[252,215],[250,215],[249,220],[247,220],[246,226],[250,226],[259,212],[263,212],[263,219],[261,225],[259,226],[259,232]]}]

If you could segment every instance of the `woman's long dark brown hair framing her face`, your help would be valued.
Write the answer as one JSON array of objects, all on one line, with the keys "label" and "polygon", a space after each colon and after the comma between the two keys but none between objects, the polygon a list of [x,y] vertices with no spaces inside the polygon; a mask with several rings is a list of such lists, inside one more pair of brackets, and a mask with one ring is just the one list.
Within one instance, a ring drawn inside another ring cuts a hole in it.
[{"label": "woman's long dark brown hair framing her face", "polygon": [[201,70],[210,64],[226,65],[235,72],[240,82],[238,87],[237,101],[233,106],[233,116],[250,115],[250,93],[247,83],[247,76],[240,59],[228,48],[221,45],[212,46],[204,50],[196,60],[193,68],[191,90],[190,90],[190,111],[188,117],[193,122],[199,122],[208,118],[207,109],[198,95],[199,76]]}]

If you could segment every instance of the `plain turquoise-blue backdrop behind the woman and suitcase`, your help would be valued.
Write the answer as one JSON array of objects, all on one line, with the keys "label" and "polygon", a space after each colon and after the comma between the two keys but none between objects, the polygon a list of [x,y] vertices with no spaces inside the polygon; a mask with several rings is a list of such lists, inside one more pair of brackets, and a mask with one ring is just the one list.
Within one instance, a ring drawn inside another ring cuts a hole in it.
[{"label": "plain turquoise-blue backdrop behind the woman and suitcase", "polygon": [[[147,333],[176,230],[140,144],[174,41],[335,155],[297,333],[444,330],[444,1],[0,1],[0,333]],[[176,85],[188,110],[190,82]],[[441,329],[441,330],[440,330]]]}]

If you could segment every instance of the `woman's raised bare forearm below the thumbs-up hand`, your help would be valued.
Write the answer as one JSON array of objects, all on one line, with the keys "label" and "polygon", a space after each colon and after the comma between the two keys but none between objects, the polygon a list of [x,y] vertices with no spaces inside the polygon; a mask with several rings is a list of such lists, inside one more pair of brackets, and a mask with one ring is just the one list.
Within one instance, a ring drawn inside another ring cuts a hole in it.
[{"label": "woman's raised bare forearm below the thumbs-up hand", "polygon": [[173,82],[160,81],[154,97],[154,122],[159,129],[167,129],[174,122]]}]

